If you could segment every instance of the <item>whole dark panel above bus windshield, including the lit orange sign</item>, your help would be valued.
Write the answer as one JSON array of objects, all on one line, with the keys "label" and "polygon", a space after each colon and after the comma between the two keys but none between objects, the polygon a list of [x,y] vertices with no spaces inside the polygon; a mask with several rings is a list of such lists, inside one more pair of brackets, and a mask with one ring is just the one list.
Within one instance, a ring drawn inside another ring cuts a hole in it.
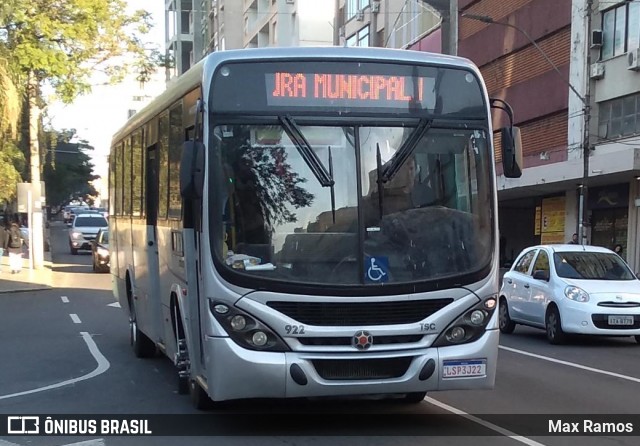
[{"label": "whole dark panel above bus windshield, including the lit orange sign", "polygon": [[487,117],[482,85],[469,70],[391,61],[229,63],[213,73],[210,94],[216,115]]}]

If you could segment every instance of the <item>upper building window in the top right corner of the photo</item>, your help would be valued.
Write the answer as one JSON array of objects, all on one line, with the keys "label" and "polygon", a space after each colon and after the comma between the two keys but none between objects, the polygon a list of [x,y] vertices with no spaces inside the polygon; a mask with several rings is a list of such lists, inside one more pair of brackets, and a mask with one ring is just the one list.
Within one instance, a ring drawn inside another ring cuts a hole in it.
[{"label": "upper building window in the top right corner of the photo", "polygon": [[610,59],[640,46],[640,2],[625,2],[602,14],[601,59]]}]

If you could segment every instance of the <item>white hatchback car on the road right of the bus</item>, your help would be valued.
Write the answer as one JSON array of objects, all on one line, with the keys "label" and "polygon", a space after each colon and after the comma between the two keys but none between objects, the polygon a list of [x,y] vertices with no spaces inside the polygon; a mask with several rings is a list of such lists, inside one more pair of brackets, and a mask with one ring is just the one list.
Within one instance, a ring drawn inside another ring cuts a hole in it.
[{"label": "white hatchback car on the road right of the bus", "polygon": [[543,328],[552,344],[567,333],[635,336],[640,343],[640,280],[599,246],[539,245],[523,250],[500,290],[500,331]]}]

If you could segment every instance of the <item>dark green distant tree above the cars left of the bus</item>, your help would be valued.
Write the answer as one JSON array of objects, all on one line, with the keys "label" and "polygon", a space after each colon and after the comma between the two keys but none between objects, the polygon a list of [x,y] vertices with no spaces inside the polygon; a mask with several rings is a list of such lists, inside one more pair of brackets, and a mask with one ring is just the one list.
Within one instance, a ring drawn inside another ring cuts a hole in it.
[{"label": "dark green distant tree above the cars left of the bus", "polygon": [[59,206],[73,198],[89,201],[97,191],[91,181],[98,179],[93,174],[91,158],[85,152],[93,150],[86,141],[71,142],[73,130],[46,132],[47,163],[42,173],[47,185],[47,203]]}]

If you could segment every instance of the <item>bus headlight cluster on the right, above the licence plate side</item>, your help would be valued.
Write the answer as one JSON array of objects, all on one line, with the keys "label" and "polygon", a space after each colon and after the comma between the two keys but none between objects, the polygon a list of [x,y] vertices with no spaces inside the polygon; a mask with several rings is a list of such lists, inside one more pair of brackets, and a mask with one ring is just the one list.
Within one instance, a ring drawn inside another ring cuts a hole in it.
[{"label": "bus headlight cluster on the right, above the licence plate side", "polygon": [[447,347],[478,340],[484,334],[497,302],[497,296],[490,296],[466,310],[438,336],[433,347]]}]

